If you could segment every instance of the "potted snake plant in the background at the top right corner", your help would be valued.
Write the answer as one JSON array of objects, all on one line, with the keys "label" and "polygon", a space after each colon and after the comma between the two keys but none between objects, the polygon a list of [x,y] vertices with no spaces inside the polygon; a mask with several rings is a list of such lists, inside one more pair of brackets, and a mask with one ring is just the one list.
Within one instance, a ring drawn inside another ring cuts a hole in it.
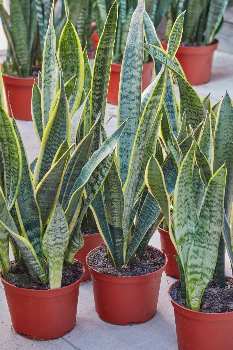
[{"label": "potted snake plant in the background at the top right corner", "polygon": [[186,10],[184,30],[176,58],[191,85],[210,81],[213,52],[218,41],[214,36],[223,27],[223,14],[228,0],[223,1],[171,1],[167,11],[166,36],[161,38],[163,49],[176,17]]}]

